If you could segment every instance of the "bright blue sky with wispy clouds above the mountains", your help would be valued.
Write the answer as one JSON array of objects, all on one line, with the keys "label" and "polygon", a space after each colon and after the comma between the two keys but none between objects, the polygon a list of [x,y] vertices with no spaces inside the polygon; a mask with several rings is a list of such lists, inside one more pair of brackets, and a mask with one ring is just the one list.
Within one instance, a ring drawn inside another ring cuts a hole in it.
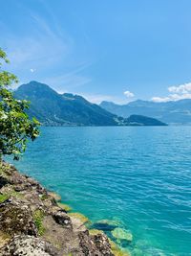
[{"label": "bright blue sky with wispy clouds above the mountains", "polygon": [[[20,83],[120,104],[191,98],[190,0],[0,0]],[[126,93],[124,93],[126,92]]]}]

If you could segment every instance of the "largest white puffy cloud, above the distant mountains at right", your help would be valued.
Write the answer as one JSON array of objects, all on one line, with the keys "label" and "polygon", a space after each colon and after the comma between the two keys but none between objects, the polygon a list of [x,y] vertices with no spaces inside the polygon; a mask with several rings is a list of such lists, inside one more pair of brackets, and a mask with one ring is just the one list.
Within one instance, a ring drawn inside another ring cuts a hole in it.
[{"label": "largest white puffy cloud, above the distant mountains at right", "polygon": [[153,97],[151,101],[155,103],[166,103],[191,99],[191,82],[183,83],[178,86],[170,86],[168,87],[168,91],[170,94],[167,97]]}]

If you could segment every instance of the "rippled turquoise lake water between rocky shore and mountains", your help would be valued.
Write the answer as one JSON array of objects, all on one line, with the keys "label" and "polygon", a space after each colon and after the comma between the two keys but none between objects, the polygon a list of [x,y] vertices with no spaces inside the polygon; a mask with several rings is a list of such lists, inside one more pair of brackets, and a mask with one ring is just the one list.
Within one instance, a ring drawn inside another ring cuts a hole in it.
[{"label": "rippled turquoise lake water between rocky shore and mountains", "polygon": [[91,221],[122,221],[133,255],[191,255],[191,127],[42,128],[15,164]]}]

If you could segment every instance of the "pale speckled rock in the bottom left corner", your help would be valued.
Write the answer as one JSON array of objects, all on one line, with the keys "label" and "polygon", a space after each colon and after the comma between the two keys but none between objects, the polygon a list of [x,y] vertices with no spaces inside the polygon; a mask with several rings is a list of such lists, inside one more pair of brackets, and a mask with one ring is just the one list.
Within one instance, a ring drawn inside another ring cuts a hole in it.
[{"label": "pale speckled rock in the bottom left corner", "polygon": [[1,248],[0,256],[61,256],[52,244],[31,236],[15,236]]}]

